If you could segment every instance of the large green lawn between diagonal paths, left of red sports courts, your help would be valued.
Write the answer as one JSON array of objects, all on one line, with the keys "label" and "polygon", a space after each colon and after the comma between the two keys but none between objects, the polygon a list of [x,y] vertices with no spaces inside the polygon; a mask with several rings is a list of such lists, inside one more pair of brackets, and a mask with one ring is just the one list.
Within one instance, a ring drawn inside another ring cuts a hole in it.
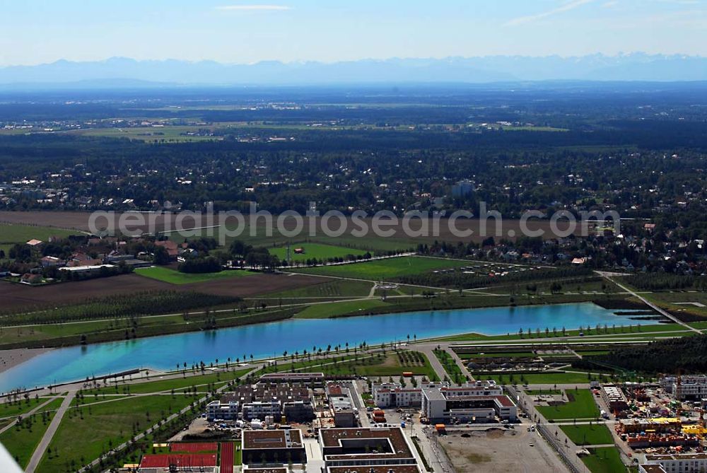
[{"label": "large green lawn between diagonal paths, left of red sports courts", "polygon": [[69,409],[49,443],[51,455],[45,453],[37,471],[63,472],[67,465],[73,471],[191,401],[183,396],[142,396]]}]

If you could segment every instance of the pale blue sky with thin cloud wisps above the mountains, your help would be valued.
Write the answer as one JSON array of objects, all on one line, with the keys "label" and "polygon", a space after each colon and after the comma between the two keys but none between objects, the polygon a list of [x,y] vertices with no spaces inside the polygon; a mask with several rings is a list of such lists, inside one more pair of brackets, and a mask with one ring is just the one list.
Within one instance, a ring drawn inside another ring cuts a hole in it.
[{"label": "pale blue sky with thin cloud wisps above the mountains", "polygon": [[707,0],[0,0],[0,65],[636,51],[707,56]]}]

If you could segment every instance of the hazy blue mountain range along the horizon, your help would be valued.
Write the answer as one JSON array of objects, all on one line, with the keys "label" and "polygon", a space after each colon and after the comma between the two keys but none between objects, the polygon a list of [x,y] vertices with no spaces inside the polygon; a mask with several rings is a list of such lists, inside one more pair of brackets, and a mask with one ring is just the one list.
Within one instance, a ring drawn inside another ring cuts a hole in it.
[{"label": "hazy blue mountain range along the horizon", "polygon": [[37,66],[0,67],[1,84],[76,83],[132,86],[179,84],[315,84],[376,82],[469,82],[592,80],[703,81],[707,58],[643,53],[582,57],[449,57],[445,59],[363,59],[336,62],[258,62],[220,64],[213,61],[136,61],[114,57],[98,62],[60,60]]}]

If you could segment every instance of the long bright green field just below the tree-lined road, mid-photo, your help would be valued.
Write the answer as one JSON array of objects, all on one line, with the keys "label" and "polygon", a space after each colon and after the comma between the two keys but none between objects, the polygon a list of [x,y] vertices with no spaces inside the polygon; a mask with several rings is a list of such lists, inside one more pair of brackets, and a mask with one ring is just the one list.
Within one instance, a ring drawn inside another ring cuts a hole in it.
[{"label": "long bright green field just below the tree-lined road, mid-photo", "polygon": [[458,268],[467,266],[468,264],[469,262],[457,259],[407,256],[354,264],[341,264],[339,266],[298,269],[296,271],[302,274],[320,274],[322,276],[378,281],[382,279],[394,279],[409,274],[427,273],[436,269]]}]

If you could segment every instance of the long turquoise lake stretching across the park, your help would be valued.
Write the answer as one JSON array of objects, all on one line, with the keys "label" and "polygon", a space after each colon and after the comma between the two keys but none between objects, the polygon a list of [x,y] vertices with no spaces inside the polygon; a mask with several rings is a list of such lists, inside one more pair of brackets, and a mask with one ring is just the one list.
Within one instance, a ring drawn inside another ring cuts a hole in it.
[{"label": "long turquoise lake stretching across the park", "polygon": [[[434,310],[390,315],[336,319],[289,319],[259,325],[224,328],[209,332],[165,335],[114,341],[89,346],[71,346],[35,356],[0,373],[0,391],[18,387],[47,386],[87,376],[117,373],[133,368],[174,369],[177,363],[250,359],[279,356],[312,346],[328,344],[356,346],[477,332],[496,335],[545,327],[560,330],[580,326],[636,324],[629,317],[592,303],[498,307],[484,309]],[[654,322],[648,322],[654,323]]]}]

